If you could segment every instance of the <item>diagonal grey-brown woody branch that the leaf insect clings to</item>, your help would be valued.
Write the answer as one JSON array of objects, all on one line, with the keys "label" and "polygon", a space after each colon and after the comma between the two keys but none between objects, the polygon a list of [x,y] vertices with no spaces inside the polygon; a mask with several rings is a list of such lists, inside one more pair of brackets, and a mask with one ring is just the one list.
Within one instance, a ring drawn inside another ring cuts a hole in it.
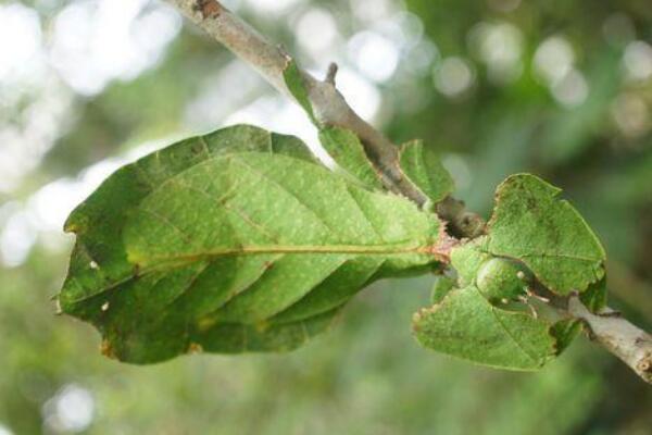
[{"label": "diagonal grey-brown woody branch that the leaf insect clings to", "polygon": [[[267,41],[216,0],[168,1],[215,40],[258,71],[278,91],[294,99],[284,79],[284,71],[291,58],[283,48]],[[418,206],[425,204],[427,198],[403,176],[400,170],[398,148],[361,119],[337,90],[335,70],[329,70],[325,80],[318,80],[305,72],[302,72],[302,75],[317,120],[323,124],[343,127],[355,133],[367,157],[383,175],[386,187]],[[465,211],[464,204],[453,198],[449,197],[438,204],[437,213],[449,223],[449,231],[454,236],[475,237],[484,229],[481,217]],[[565,311],[568,315],[582,320],[598,343],[625,361],[641,378],[652,383],[652,339],[649,334],[625,319],[592,314],[576,297],[568,300]]]}]

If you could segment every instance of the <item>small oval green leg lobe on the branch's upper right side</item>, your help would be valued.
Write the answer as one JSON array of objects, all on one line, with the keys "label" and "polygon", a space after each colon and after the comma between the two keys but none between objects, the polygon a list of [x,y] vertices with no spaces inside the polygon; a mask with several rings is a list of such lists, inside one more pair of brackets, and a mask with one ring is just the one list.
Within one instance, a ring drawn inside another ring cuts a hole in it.
[{"label": "small oval green leg lobe on the branch's upper right side", "polygon": [[441,201],[453,190],[453,179],[441,164],[439,156],[424,147],[421,140],[404,144],[400,150],[403,173],[416,185],[432,204]]}]

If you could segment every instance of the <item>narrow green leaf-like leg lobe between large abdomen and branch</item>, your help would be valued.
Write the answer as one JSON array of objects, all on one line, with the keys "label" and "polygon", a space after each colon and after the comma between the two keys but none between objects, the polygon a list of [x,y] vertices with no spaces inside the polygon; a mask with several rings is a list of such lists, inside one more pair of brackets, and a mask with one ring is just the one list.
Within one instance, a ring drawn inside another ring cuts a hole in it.
[{"label": "narrow green leaf-like leg lobe between large abdomen and branch", "polygon": [[367,188],[384,189],[379,175],[353,132],[340,127],[326,127],[319,132],[319,140],[347,176]]}]

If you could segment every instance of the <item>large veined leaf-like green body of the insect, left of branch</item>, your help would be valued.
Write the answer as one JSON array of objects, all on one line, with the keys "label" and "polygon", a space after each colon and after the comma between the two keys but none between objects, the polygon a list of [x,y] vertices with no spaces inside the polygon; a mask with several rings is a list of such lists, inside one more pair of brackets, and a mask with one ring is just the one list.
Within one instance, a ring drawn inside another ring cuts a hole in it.
[{"label": "large veined leaf-like green body of the insect, left of branch", "polygon": [[118,170],[66,228],[63,311],[93,323],[105,353],[148,363],[294,348],[368,283],[434,263],[439,221],[240,126]]}]

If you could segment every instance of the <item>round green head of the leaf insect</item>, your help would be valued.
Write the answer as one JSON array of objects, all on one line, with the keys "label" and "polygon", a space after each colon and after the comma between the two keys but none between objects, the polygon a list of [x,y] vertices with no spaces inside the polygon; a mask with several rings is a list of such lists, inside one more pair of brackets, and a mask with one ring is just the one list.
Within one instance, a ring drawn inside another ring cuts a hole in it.
[{"label": "round green head of the leaf insect", "polygon": [[513,261],[492,258],[487,260],[476,276],[476,285],[490,302],[514,300],[525,293],[525,272]]}]

